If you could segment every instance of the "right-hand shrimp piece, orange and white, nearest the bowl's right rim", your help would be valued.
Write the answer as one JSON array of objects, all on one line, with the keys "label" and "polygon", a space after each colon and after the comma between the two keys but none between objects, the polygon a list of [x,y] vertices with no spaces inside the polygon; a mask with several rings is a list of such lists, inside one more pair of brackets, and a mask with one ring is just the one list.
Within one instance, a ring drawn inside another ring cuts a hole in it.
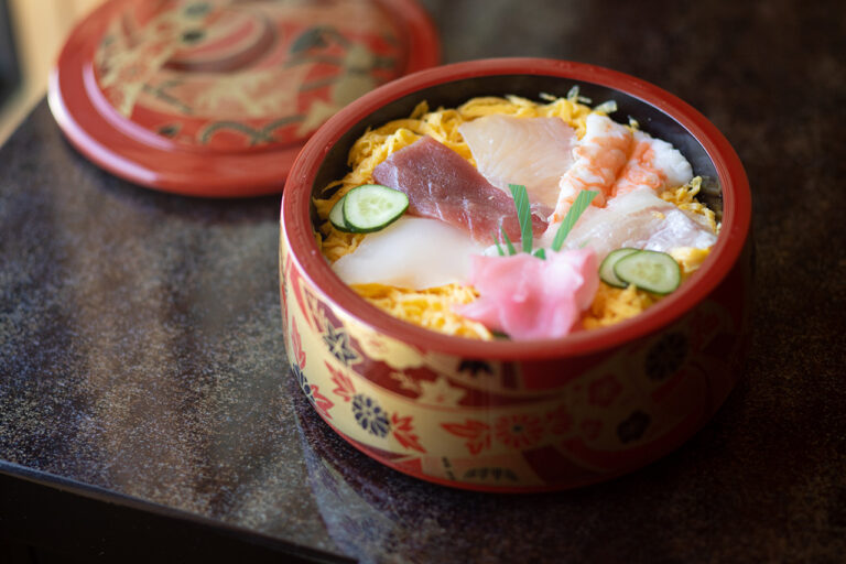
[{"label": "right-hand shrimp piece, orange and white, nearest the bowl's right rim", "polygon": [[640,187],[652,188],[660,194],[676,188],[693,178],[691,163],[673,145],[648,133],[634,133],[634,149],[611,193],[621,196]]}]

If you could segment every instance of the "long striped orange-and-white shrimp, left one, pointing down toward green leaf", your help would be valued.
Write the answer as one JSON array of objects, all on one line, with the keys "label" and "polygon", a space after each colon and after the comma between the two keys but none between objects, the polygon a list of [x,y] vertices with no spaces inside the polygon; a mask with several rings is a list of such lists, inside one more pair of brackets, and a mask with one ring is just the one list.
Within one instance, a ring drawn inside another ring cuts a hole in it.
[{"label": "long striped orange-and-white shrimp, left one, pointing down toward green leaf", "polygon": [[549,217],[547,230],[557,230],[570,207],[583,189],[598,192],[592,202],[605,206],[612,195],[614,183],[629,159],[633,137],[628,128],[607,116],[590,113],[585,121],[585,137],[573,149],[575,162],[561,177],[555,212]]}]

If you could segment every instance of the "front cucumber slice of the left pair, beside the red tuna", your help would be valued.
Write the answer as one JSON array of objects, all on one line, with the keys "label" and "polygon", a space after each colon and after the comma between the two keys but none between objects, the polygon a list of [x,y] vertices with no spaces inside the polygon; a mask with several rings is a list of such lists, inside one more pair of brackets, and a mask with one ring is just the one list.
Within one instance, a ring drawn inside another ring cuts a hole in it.
[{"label": "front cucumber slice of the left pair, beside the red tuna", "polygon": [[348,229],[369,234],[384,229],[405,213],[409,196],[379,184],[365,184],[344,196],[344,221]]}]

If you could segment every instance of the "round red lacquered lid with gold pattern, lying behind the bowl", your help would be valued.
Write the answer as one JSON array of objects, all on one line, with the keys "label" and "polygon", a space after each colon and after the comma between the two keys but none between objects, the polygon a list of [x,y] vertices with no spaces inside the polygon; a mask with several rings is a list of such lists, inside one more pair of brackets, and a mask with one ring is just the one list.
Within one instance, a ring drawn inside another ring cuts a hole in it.
[{"label": "round red lacquered lid with gold pattern, lying behind the bowl", "polygon": [[251,196],[281,192],[338,109],[438,57],[414,0],[109,0],[70,33],[48,98],[118,176]]}]

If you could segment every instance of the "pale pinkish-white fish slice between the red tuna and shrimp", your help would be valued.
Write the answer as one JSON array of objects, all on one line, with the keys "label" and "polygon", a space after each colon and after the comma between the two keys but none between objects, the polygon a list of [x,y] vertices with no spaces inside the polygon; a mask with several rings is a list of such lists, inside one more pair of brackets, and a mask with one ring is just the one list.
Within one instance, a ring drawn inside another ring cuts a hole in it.
[{"label": "pale pinkish-white fish slice between the red tuna and shrimp", "polygon": [[558,202],[558,182],[573,164],[575,130],[560,118],[485,116],[458,127],[476,167],[488,182],[510,194],[522,184],[529,202],[546,215]]}]

